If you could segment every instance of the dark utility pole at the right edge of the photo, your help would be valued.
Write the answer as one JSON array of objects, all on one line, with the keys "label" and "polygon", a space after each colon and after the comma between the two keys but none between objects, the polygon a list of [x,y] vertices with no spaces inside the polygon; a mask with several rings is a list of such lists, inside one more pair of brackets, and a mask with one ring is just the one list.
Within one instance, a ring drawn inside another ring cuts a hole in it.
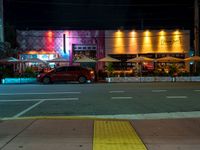
[{"label": "dark utility pole at the right edge of the photo", "polygon": [[199,2],[194,2],[194,49],[195,55],[199,55]]}]

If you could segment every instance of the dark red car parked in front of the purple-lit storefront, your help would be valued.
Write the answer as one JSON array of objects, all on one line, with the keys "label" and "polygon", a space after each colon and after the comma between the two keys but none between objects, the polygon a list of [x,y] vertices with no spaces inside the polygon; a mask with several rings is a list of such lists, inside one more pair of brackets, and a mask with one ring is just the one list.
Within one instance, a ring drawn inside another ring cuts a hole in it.
[{"label": "dark red car parked in front of the purple-lit storefront", "polygon": [[78,81],[86,83],[94,81],[95,74],[93,70],[86,69],[80,66],[62,66],[55,68],[46,73],[40,73],[37,80],[44,84],[59,82],[59,81]]}]

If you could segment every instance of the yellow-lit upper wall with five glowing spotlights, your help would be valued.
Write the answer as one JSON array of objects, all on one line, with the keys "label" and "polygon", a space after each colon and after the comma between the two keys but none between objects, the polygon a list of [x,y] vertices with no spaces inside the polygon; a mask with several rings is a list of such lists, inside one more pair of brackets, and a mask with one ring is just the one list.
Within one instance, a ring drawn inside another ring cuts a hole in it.
[{"label": "yellow-lit upper wall with five glowing spotlights", "polygon": [[106,31],[106,54],[186,54],[188,30]]}]

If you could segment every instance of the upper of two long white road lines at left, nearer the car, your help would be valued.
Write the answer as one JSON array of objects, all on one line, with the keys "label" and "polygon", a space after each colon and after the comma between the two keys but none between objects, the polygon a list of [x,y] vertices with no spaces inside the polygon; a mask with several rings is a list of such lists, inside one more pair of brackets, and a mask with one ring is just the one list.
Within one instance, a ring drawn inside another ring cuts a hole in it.
[{"label": "upper of two long white road lines at left, nearer the car", "polygon": [[52,95],[52,94],[81,94],[81,92],[50,92],[50,93],[2,93],[0,96],[8,95]]}]

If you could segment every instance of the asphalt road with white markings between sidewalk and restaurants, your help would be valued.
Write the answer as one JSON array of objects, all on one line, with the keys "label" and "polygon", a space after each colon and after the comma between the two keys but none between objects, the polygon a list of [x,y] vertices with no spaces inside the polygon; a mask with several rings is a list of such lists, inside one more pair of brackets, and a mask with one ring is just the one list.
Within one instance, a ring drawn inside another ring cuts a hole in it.
[{"label": "asphalt road with white markings between sidewalk and restaurants", "polygon": [[198,111],[200,83],[0,85],[0,119]]}]

